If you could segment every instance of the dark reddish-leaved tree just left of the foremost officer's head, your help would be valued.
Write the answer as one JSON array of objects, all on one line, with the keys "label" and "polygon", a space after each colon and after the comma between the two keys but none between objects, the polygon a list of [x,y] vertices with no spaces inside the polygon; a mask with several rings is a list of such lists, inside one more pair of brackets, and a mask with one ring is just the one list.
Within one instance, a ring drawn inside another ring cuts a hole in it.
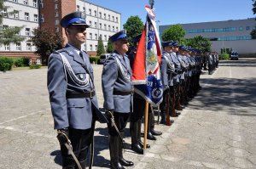
[{"label": "dark reddish-leaved tree just left of the foremost officer's head", "polygon": [[41,56],[42,64],[47,65],[49,54],[62,48],[63,38],[46,28],[36,28],[33,32],[34,37],[32,37],[31,42],[36,46],[35,53]]}]

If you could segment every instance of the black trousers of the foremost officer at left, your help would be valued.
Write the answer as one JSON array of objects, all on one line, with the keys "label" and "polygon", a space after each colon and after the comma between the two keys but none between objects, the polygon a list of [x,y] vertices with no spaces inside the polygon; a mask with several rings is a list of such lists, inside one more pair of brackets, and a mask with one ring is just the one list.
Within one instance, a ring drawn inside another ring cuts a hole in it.
[{"label": "black trousers of the foremost officer at left", "polygon": [[[73,153],[79,160],[82,168],[85,168],[86,156],[91,144],[92,129],[79,130],[68,128],[68,135],[73,146]],[[63,169],[78,169],[72,155],[67,154],[67,147],[61,145],[62,168]]]}]

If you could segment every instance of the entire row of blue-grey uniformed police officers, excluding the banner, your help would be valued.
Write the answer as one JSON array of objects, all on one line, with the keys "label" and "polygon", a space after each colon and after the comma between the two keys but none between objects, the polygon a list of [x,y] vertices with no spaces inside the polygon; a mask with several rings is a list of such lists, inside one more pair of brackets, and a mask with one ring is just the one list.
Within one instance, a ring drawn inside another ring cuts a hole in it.
[{"label": "entire row of blue-grey uniformed police officers, excluding the banner", "polygon": [[[115,33],[109,40],[113,43],[113,54],[103,65],[102,92],[104,97],[103,114],[98,107],[94,74],[89,55],[81,49],[86,40],[84,13],[67,14],[61,20],[67,36],[65,48],[49,56],[47,86],[49,101],[57,138],[61,145],[62,168],[85,168],[86,156],[90,150],[93,155],[93,137],[96,121],[108,124],[110,167],[122,169],[133,166],[123,155],[124,130],[130,119],[131,149],[143,154],[141,126],[145,100],[134,93],[131,82],[131,67],[136,47],[129,56],[128,37],[125,31]],[[140,36],[134,41],[137,43]],[[199,85],[202,57],[201,52],[177,42],[163,42],[160,71],[164,87],[164,101],[160,104],[162,124],[169,116],[177,116],[177,110],[192,99],[201,88]],[[170,109],[166,109],[166,108]],[[131,113],[132,112],[132,113]],[[154,110],[148,112],[147,138],[161,132],[154,130]],[[171,121],[173,122],[173,121]],[[150,146],[147,144],[147,148]],[[92,156],[90,157],[92,166]]]}]

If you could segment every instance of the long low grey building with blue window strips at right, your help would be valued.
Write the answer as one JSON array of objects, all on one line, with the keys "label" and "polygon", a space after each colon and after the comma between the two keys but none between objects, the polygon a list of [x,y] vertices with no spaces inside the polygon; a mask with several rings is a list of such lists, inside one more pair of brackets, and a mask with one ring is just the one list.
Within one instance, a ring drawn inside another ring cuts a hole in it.
[{"label": "long low grey building with blue window strips at right", "polygon": [[[250,32],[255,28],[254,18],[246,20],[224,20],[181,24],[186,32],[185,38],[207,37],[212,42],[212,51],[220,53],[221,48],[232,48],[239,54],[256,54],[256,40]],[[160,35],[171,25],[160,25]]]}]

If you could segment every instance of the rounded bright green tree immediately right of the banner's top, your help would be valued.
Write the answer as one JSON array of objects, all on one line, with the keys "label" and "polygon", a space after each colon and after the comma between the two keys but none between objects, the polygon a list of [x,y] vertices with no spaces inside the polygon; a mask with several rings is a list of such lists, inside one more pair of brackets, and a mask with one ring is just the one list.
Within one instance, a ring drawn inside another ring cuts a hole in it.
[{"label": "rounded bright green tree immediately right of the banner's top", "polygon": [[172,25],[169,28],[167,28],[163,35],[162,40],[163,41],[178,41],[180,43],[185,42],[185,31],[183,29],[182,25]]}]

